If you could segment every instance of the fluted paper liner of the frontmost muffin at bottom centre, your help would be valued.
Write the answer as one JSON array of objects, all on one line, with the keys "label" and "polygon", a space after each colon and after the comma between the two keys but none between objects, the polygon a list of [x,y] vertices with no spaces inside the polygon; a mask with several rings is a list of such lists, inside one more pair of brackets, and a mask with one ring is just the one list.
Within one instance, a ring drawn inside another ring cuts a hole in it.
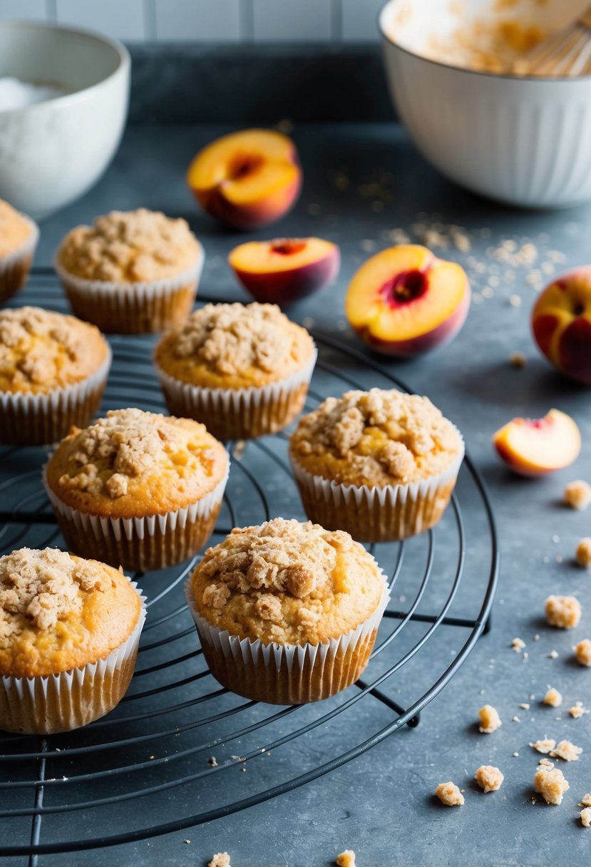
[{"label": "fluted paper liner of the frontmost muffin at bottom centre", "polygon": [[232,636],[199,614],[191,579],[185,583],[185,596],[205,660],[216,680],[244,698],[286,705],[321,701],[360,678],[390,600],[390,590],[384,578],[380,603],[367,620],[319,644],[263,644],[260,639]]}]

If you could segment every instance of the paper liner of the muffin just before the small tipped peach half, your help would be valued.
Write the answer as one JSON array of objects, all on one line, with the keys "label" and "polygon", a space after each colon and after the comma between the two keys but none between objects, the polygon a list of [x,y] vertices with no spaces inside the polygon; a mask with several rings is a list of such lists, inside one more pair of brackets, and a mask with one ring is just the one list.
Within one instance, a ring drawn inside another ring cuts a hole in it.
[{"label": "paper liner of the muffin just before the small tipped peach half", "polygon": [[156,364],[166,406],[173,415],[202,421],[218,440],[250,440],[287,427],[302,411],[316,350],[302,370],[269,385],[202,388],[182,382]]}]

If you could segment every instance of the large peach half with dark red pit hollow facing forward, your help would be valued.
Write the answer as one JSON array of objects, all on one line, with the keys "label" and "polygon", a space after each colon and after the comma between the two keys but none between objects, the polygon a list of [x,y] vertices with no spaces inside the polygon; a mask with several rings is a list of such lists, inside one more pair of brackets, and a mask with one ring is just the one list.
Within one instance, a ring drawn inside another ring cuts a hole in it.
[{"label": "large peach half with dark red pit hollow facing forward", "polygon": [[404,357],[456,336],[470,297],[460,265],[419,244],[399,244],[361,265],[349,284],[345,312],[361,340],[385,355]]}]

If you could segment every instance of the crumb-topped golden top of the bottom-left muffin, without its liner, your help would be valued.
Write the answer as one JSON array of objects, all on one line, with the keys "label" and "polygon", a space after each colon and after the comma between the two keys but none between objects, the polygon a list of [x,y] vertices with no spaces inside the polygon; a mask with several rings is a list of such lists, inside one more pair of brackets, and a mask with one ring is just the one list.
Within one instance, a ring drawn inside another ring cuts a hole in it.
[{"label": "crumb-topped golden top of the bottom-left muffin, without its liner", "polygon": [[122,572],[55,548],[0,557],[0,675],[36,677],[104,659],[135,629]]}]

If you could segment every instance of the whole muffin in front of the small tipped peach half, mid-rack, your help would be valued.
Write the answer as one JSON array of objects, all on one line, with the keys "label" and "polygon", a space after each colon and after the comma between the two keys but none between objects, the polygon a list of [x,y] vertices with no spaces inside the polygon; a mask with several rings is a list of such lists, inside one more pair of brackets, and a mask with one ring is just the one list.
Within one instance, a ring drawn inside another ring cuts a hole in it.
[{"label": "whole muffin in front of the small tipped peach half, mid-rack", "polygon": [[275,304],[206,304],[154,351],[170,411],[203,421],[220,440],[289,425],[315,361],[308,331]]}]

